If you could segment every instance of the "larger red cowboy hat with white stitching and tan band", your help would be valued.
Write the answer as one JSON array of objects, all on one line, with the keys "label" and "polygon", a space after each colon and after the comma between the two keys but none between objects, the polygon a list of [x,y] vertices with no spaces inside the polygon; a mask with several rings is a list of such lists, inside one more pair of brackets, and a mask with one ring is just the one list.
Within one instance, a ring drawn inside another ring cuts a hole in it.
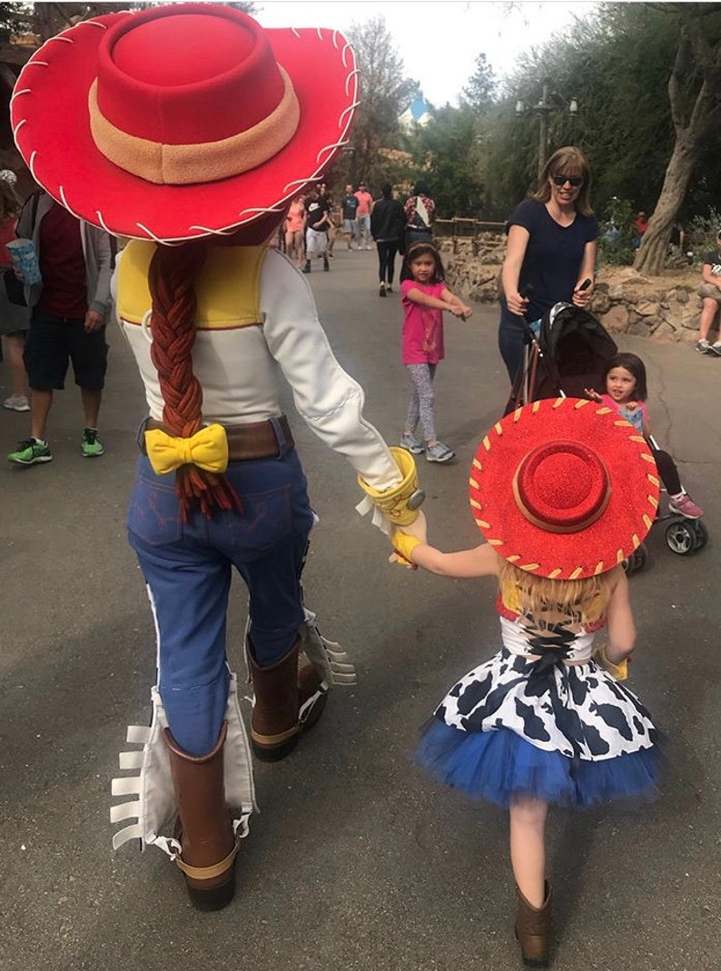
[{"label": "larger red cowboy hat with white stitching and tan band", "polygon": [[356,98],[337,31],[264,30],[188,3],[51,38],[22,69],[11,117],[32,175],[72,213],[171,242],[280,218],[342,151]]}]

